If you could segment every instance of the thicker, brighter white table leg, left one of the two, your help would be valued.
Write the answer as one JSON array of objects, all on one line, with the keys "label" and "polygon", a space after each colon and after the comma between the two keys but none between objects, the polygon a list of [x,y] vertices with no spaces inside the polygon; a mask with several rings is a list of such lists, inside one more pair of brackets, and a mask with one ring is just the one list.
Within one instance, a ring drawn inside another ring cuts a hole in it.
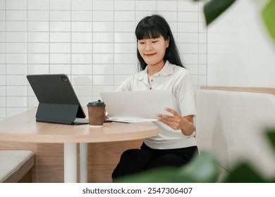
[{"label": "thicker, brighter white table leg, left one of the two", "polygon": [[64,143],[64,182],[76,183],[78,181],[77,144]]}]

